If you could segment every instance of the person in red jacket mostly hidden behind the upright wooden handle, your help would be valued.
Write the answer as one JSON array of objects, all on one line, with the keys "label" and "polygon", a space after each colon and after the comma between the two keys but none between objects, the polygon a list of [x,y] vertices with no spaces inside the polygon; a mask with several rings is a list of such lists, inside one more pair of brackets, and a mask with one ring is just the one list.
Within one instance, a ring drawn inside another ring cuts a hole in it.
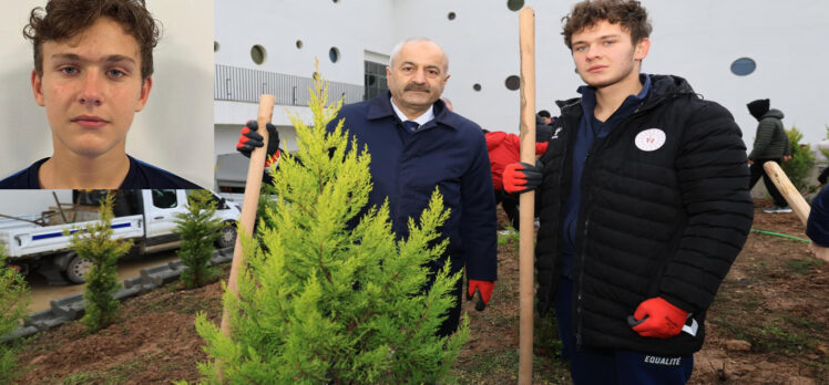
[{"label": "person in red jacket mostly hidden behind the upright wooden handle", "polygon": [[[506,165],[521,159],[521,137],[502,131],[487,132],[487,152],[490,155],[490,167],[492,168],[492,188],[495,190],[495,205],[501,204],[512,227],[519,229],[518,197],[503,189],[501,175]],[[538,141],[538,138],[536,138]],[[535,155],[544,154],[546,142],[535,143]]]}]

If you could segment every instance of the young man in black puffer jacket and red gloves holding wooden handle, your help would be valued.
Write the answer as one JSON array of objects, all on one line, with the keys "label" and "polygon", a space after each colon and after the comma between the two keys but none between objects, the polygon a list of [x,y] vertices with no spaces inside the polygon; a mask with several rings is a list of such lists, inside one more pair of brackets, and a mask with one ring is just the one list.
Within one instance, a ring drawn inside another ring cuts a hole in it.
[{"label": "young man in black puffer jacket and red gloves holding wooden handle", "polygon": [[639,74],[638,1],[582,1],[564,20],[587,85],[559,103],[542,165],[504,170],[508,191],[541,195],[539,311],[555,306],[574,383],[684,384],[751,225],[746,146],[684,79]]}]

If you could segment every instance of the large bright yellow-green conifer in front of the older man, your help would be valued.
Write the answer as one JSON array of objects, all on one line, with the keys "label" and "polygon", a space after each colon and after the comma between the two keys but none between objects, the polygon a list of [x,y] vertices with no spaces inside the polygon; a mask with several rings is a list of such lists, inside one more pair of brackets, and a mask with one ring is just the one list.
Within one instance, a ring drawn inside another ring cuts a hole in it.
[{"label": "large bright yellow-green conifer in front of the older man", "polygon": [[391,231],[388,202],[347,225],[368,202],[370,158],[348,143],[342,121],[326,134],[342,101],[327,105],[323,84],[316,79],[310,93],[314,125],[291,116],[301,163],[283,155],[260,233],[242,239],[239,292],[224,296],[232,337],[197,316],[205,351],[216,358],[199,364],[209,383],[216,365],[229,384],[434,382],[469,337],[465,318],[456,334],[436,336],[460,274],[447,266],[424,290],[426,264],[447,247],[436,232],[449,216],[437,189],[422,216],[409,220],[408,239]]}]

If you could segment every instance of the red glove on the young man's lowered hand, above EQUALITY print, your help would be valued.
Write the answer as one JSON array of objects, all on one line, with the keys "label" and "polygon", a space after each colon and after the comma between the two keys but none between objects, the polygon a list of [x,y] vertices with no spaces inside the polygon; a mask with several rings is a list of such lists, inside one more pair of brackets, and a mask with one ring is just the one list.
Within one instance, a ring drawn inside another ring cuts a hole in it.
[{"label": "red glove on the young man's lowered hand, above EQUALITY print", "polygon": [[669,339],[683,331],[688,312],[674,306],[662,296],[639,303],[633,318],[638,321],[633,331],[645,337]]}]

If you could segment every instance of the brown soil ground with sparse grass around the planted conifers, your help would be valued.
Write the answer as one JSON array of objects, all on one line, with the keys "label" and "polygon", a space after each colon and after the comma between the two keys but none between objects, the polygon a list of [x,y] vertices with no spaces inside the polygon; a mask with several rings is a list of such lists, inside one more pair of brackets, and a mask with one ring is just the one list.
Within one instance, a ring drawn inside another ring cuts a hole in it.
[{"label": "brown soil ground with sparse grass around the planted conifers", "polygon": [[[766,204],[757,205],[755,229],[806,238],[792,214],[764,214],[759,207]],[[499,248],[492,302],[483,312],[464,303],[472,336],[453,372],[463,384],[518,378],[518,243],[508,238]],[[749,236],[708,313],[708,335],[695,355],[693,384],[829,384],[829,267],[811,258],[806,246]],[[193,325],[195,313],[203,311],[218,323],[221,291],[219,283],[192,291],[167,285],[124,302],[122,322],[96,334],[85,333],[79,322],[41,333],[18,354],[20,383],[197,381],[195,363],[207,356]],[[549,321],[536,323],[533,382],[570,383]]]}]

